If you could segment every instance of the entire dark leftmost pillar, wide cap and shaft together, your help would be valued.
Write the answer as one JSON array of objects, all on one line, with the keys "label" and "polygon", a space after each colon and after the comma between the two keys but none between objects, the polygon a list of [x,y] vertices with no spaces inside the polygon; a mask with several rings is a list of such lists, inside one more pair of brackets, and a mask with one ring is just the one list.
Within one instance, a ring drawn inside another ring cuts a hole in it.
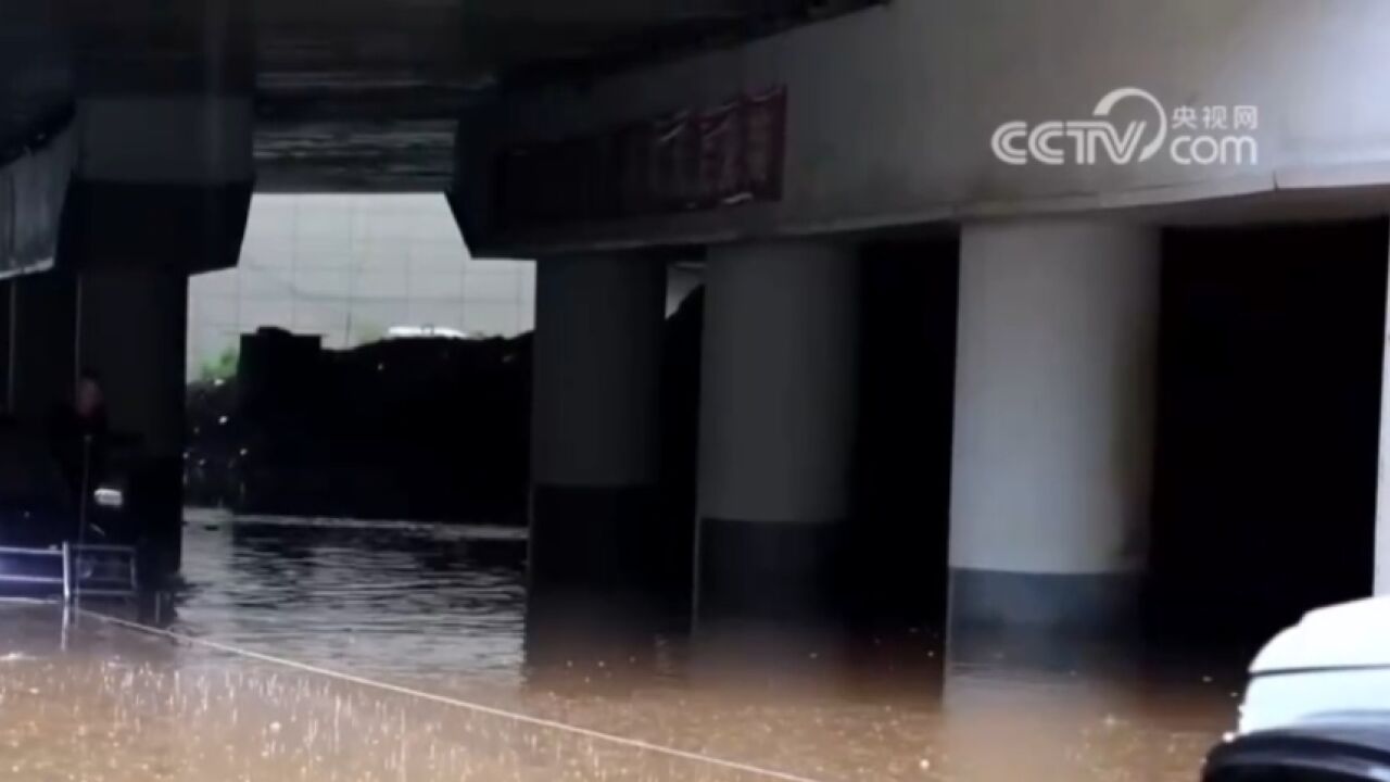
[{"label": "entire dark leftmost pillar, wide cap and shaft together", "polygon": [[236,264],[253,189],[249,4],[122,6],[79,29],[78,168],[63,256],[81,360],[139,441],[138,518],[177,569],[188,276]]}]

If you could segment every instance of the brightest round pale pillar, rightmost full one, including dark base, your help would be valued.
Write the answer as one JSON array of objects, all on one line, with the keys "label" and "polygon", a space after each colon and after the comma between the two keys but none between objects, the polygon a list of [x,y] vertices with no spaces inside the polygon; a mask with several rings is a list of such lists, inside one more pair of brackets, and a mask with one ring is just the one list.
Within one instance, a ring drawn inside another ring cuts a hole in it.
[{"label": "brightest round pale pillar, rightmost full one, including dark base", "polygon": [[1099,629],[1147,559],[1158,232],[981,223],[960,244],[951,622]]}]

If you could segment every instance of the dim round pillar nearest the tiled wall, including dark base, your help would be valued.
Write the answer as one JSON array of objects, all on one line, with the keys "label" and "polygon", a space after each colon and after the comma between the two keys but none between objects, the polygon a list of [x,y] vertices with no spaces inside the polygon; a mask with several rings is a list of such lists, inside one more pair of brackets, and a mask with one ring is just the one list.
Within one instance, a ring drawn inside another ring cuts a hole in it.
[{"label": "dim round pillar nearest the tiled wall, including dark base", "polygon": [[538,264],[534,586],[602,590],[641,576],[660,526],[664,296],[663,263],[638,253]]}]

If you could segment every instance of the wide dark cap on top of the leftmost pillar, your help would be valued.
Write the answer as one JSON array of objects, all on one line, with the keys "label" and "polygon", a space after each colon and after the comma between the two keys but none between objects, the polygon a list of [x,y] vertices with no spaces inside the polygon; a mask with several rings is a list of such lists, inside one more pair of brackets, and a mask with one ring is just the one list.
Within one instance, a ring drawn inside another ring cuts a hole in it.
[{"label": "wide dark cap on top of the leftmost pillar", "polygon": [[79,269],[235,266],[254,182],[249,4],[79,3]]}]

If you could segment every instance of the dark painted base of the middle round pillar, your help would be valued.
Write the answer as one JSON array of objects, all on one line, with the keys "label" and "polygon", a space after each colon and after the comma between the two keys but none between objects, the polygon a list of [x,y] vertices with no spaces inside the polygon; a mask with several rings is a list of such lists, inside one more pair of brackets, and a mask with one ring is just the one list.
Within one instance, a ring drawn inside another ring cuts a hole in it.
[{"label": "dark painted base of the middle round pillar", "polygon": [[840,522],[701,519],[699,622],[840,621]]}]

